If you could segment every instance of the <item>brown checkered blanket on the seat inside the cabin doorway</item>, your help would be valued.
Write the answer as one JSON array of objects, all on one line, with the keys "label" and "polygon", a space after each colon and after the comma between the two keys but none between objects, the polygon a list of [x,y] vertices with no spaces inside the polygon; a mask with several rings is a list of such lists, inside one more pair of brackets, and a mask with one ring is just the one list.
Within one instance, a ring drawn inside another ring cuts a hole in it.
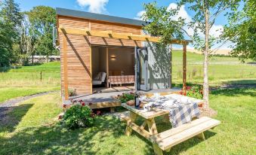
[{"label": "brown checkered blanket on the seat inside the cabin doorway", "polygon": [[133,84],[134,75],[109,76],[110,84]]}]

